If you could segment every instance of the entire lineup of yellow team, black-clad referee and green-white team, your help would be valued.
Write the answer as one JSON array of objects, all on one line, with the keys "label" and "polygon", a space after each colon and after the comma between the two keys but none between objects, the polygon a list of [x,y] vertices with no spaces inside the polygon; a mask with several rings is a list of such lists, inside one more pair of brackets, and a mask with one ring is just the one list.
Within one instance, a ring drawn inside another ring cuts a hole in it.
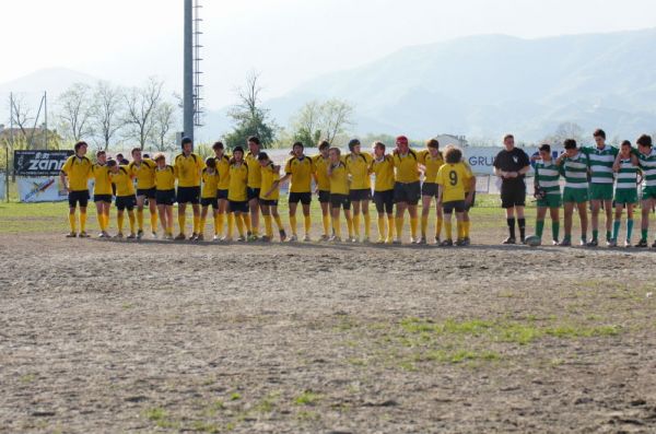
[{"label": "entire lineup of yellow team, black-clad referee and green-white team", "polygon": [[[647,247],[649,212],[656,203],[656,152],[652,138],[643,134],[633,148],[629,141],[614,148],[606,143],[602,130],[594,132],[595,146],[578,146],[565,140],[565,151],[552,154],[542,144],[539,155],[529,156],[514,145],[514,137],[504,137],[504,146],[494,160],[495,175],[501,179],[502,207],[506,210],[508,237],[504,244],[515,244],[515,226],[519,241],[541,244],[547,212],[551,216],[552,244],[572,245],[573,214],[581,220],[581,244],[594,247],[599,243],[599,214],[606,214],[606,242],[618,245],[620,221],[626,210],[625,246],[631,246],[633,213],[642,208],[641,238],[637,247]],[[304,145],[296,142],[283,167],[274,164],[261,151],[257,137],[227,154],[223,143],[213,145],[214,156],[204,161],[192,152],[189,139],[183,139],[181,152],[172,162],[157,153],[153,159],[140,149],[131,152],[128,162],[117,155],[109,159],[104,151],[96,161],[86,156],[87,144],[78,142],[75,154],[61,169],[61,184],[69,197],[68,237],[87,237],[86,208],[91,199],[87,183],[93,179],[93,201],[96,206],[99,237],[109,237],[109,211],[117,209],[117,233],[124,237],[125,213],[129,220],[128,239],[144,236],[144,210],[150,212],[150,228],[157,237],[161,226],[164,239],[204,241],[208,219],[213,221],[216,242],[271,242],[273,224],[281,242],[311,242],[311,202],[318,197],[321,209],[320,241],[342,242],[343,213],[350,243],[372,241],[370,202],[377,213],[378,244],[401,244],[406,211],[410,222],[412,244],[466,246],[470,244],[469,211],[475,203],[476,176],[465,162],[462,151],[454,145],[440,149],[437,140],[426,141],[425,149],[410,149],[406,137],[396,139],[389,152],[375,142],[364,152],[359,140],[349,142],[349,152],[328,142],[319,143],[319,153],[307,156]],[[526,236],[526,174],[535,167],[537,201],[536,233]],[[281,175],[281,168],[283,174]],[[372,180],[372,175],[374,179]],[[564,189],[561,191],[561,179]],[[289,181],[289,234],[278,212],[281,185]],[[314,184],[314,186],[313,186]],[[639,185],[642,184],[642,189]],[[373,192],[372,192],[373,190]],[[640,199],[639,199],[640,198]],[[174,203],[178,204],[177,235],[174,235]],[[419,204],[421,202],[421,215]],[[298,233],[297,208],[303,214],[303,236]],[[187,207],[191,206],[192,232],[186,234]],[[433,206],[434,204],[434,206]],[[612,210],[614,207],[614,221]],[[78,213],[79,208],[79,213]],[[560,239],[560,209],[564,209],[564,236]],[[591,239],[587,239],[588,208],[591,211]],[[433,211],[434,210],[434,211]],[[429,218],[434,213],[435,228],[429,235]],[[453,214],[456,236],[453,236]],[[79,214],[79,215],[77,215]],[[263,234],[260,236],[260,218]],[[236,227],[236,238],[235,238]],[[653,247],[656,247],[656,242]]]}]

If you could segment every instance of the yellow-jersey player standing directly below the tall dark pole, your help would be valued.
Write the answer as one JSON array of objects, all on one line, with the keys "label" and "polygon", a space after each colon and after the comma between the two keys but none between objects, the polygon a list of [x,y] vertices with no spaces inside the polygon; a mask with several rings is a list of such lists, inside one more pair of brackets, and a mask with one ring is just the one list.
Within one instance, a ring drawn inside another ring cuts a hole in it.
[{"label": "yellow-jersey player standing directly below the tall dark pole", "polygon": [[191,203],[194,210],[194,231],[189,239],[196,238],[200,226],[200,173],[204,168],[200,156],[191,152],[194,143],[191,139],[183,139],[183,152],[175,157],[175,173],[178,177],[177,202],[178,224],[180,233],[175,239],[185,239],[185,222],[187,203]]}]

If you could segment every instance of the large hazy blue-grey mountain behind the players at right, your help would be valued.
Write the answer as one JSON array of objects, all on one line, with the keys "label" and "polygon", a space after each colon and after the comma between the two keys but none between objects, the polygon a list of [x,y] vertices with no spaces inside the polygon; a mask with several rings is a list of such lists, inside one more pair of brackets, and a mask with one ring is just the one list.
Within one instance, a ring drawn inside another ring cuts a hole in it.
[{"label": "large hazy blue-grey mountain behind the players at right", "polygon": [[656,130],[656,28],[522,39],[470,36],[403,48],[304,83],[267,105],[281,124],[306,101],[356,107],[358,132],[540,140],[561,121],[610,136]]}]

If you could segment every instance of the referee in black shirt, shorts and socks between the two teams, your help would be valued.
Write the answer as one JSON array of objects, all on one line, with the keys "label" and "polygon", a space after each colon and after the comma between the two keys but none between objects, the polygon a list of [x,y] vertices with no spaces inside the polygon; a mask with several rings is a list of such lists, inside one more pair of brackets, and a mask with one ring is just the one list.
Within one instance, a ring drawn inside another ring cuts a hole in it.
[{"label": "referee in black shirt, shorts and socks between the two teams", "polygon": [[519,224],[522,243],[526,238],[526,219],[524,206],[526,204],[526,183],[524,178],[530,169],[530,162],[526,152],[515,148],[515,137],[506,134],[503,138],[505,149],[500,151],[494,159],[494,174],[501,177],[501,206],[506,210],[508,237],[503,244],[515,244],[515,210]]}]

